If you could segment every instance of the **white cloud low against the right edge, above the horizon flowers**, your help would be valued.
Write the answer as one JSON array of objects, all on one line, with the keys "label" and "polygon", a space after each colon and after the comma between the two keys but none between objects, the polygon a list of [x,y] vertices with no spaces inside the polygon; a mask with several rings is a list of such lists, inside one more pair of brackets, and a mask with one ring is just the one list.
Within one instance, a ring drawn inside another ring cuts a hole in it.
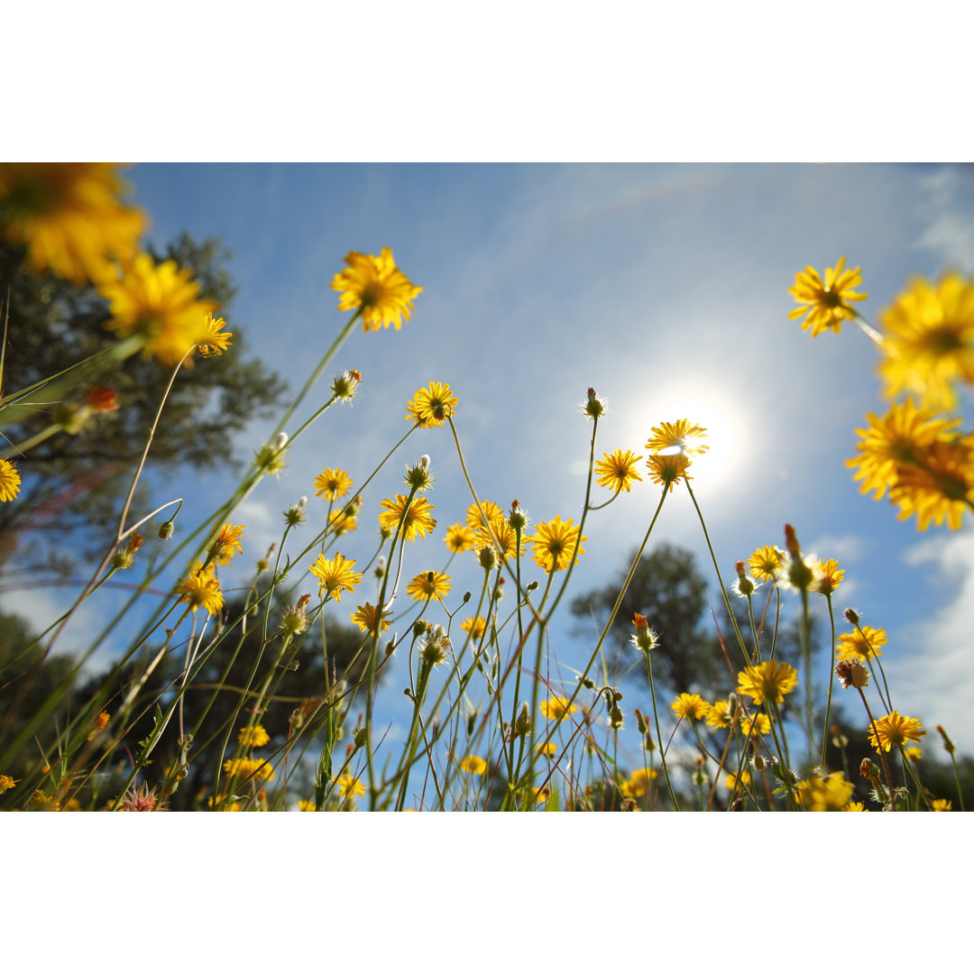
[{"label": "white cloud low against the right edge, above the horizon flowers", "polygon": [[[931,539],[907,552],[908,564],[928,564],[943,581],[948,600],[928,618],[906,626],[900,642],[910,648],[886,665],[893,702],[919,717],[929,733],[937,724],[966,753],[974,751],[974,532]],[[936,735],[929,744],[939,749]]]}]

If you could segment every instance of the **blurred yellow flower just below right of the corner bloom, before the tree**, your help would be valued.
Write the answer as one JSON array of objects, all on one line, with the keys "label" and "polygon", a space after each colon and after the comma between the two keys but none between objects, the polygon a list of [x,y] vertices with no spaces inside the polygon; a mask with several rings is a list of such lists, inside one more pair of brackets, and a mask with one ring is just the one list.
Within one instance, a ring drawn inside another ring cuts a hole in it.
[{"label": "blurred yellow flower just below right of the corner bloom, before the tree", "polygon": [[[148,254],[138,254],[120,280],[98,286],[110,304],[107,327],[123,338],[141,335],[142,355],[172,368],[198,342],[213,340],[207,315],[217,304],[197,297],[200,284],[190,281],[192,273],[188,267],[179,270],[174,260],[157,266]],[[192,359],[185,364],[192,367]]]}]

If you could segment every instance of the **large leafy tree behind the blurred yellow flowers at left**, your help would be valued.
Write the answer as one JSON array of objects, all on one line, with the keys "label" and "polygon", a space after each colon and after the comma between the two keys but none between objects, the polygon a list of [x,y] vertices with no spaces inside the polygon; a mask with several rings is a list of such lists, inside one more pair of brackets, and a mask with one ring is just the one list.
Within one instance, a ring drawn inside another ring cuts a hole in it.
[{"label": "large leafy tree behind the blurred yellow flowers at left", "polygon": [[[245,355],[239,328],[228,317],[236,287],[227,264],[230,252],[219,239],[202,243],[183,234],[157,260],[172,259],[194,269],[201,296],[218,301],[220,313],[234,332],[234,344],[223,356],[198,361],[180,370],[156,431],[146,478],[168,477],[184,466],[196,469],[234,467],[234,433],[255,417],[267,415],[284,391],[281,379],[256,358]],[[0,297],[9,286],[9,321],[2,388],[14,393],[93,356],[110,344],[105,329],[107,303],[94,287],[77,286],[51,275],[36,275],[24,266],[24,248],[0,243]],[[2,326],[2,321],[0,321]],[[66,573],[69,548],[88,555],[104,550],[106,529],[118,516],[131,472],[145,447],[169,382],[155,361],[132,356],[93,380],[118,395],[116,412],[92,417],[73,435],[57,432],[16,454],[22,477],[17,502],[0,506],[0,561],[18,551],[19,575],[52,568]],[[86,388],[77,391],[80,401]],[[32,398],[43,401],[43,390]],[[38,407],[37,415],[2,432],[10,444],[43,431],[59,403]],[[2,423],[2,415],[0,415]],[[0,447],[0,449],[2,449]]]}]

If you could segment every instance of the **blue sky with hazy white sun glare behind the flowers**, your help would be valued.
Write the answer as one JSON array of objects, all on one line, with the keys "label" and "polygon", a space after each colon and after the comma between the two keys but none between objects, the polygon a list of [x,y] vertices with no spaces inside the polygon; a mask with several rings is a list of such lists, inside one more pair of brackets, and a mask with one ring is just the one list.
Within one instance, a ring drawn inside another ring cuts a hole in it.
[{"label": "blue sky with hazy white sun glare behind the flowers", "polygon": [[[323,512],[312,487],[322,468],[347,469],[356,483],[371,472],[407,428],[406,400],[431,380],[459,397],[481,498],[502,506],[517,498],[535,521],[578,522],[590,433],[579,403],[592,386],[610,405],[598,456],[645,455],[662,421],[707,427],[710,453],[694,464],[693,487],[725,580],[735,560],[782,544],[784,524],[794,524],[806,550],[846,570],[838,612],[854,606],[887,630],[883,659],[901,712],[931,732],[943,724],[974,751],[971,534],[920,534],[857,493],[843,461],[865,413],[884,411],[874,348],[853,327],[812,340],[787,317],[795,273],[807,264],[824,270],[841,255],[862,267],[860,289],[870,295],[862,310],[874,321],[911,274],[974,270],[970,169],[145,165],[130,176],[153,241],[185,229],[219,235],[234,252],[240,293],[230,327],[294,389],[346,319],[329,285],[350,249],[392,247],[424,287],[401,331],[356,332],[335,360],[331,373],[357,368],[362,389],[352,408],[302,438],[280,480],[267,478],[240,512],[246,566],[280,539],[281,511],[301,495],[311,498],[313,523]],[[306,405],[304,415],[315,395]],[[244,455],[272,427],[249,431]],[[379,501],[401,490],[404,465],[422,453],[437,476],[438,524],[431,539],[410,545],[406,579],[443,568],[443,530],[470,500],[448,431],[419,431],[400,449],[370,485],[362,527],[343,546],[360,561],[371,555]],[[205,503],[191,504],[189,518],[230,487],[207,477]],[[644,482],[589,516],[570,594],[618,573],[657,498]],[[713,579],[685,494],[664,506],[652,543],[662,541],[689,547]],[[451,566],[451,608],[465,587],[476,590],[472,563],[466,555]],[[243,579],[249,568],[241,571]],[[354,611],[349,596],[341,608],[346,601]],[[553,630],[556,656],[580,665],[581,644],[565,635],[570,622],[564,614]],[[393,671],[390,696],[402,679]],[[648,701],[630,693],[625,703],[631,713]],[[391,703],[391,715],[404,705]],[[930,745],[939,751],[935,739]]]}]

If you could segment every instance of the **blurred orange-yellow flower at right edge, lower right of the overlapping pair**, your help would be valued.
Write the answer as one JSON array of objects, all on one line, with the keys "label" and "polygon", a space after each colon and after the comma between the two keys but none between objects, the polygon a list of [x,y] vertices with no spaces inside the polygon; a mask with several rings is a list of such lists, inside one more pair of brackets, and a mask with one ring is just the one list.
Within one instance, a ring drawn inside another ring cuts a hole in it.
[{"label": "blurred orange-yellow flower at right edge, lower right of the overlapping pair", "polygon": [[964,511],[974,504],[974,433],[938,439],[918,451],[917,465],[896,468],[889,500],[900,508],[897,518],[916,514],[918,531],[931,521],[938,526],[946,521],[958,531]]}]

